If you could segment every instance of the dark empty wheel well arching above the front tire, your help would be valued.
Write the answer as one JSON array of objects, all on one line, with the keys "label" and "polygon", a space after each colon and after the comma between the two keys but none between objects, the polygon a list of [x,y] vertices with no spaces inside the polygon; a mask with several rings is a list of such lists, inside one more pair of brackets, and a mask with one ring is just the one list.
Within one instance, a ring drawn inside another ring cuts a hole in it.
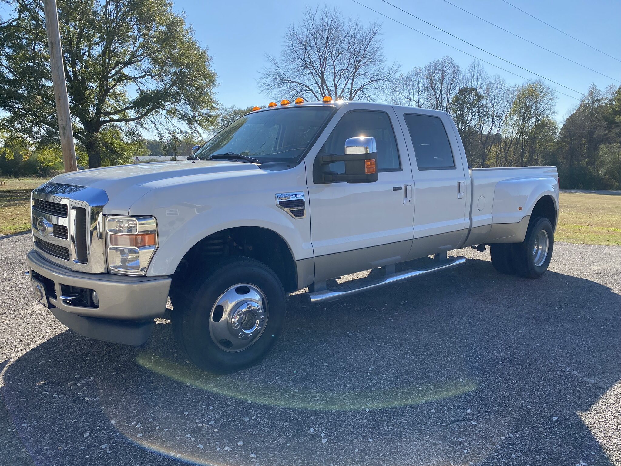
[{"label": "dark empty wheel well arching above the front tire", "polygon": [[190,248],[173,275],[173,293],[183,288],[197,269],[210,267],[232,255],[265,263],[278,275],[285,291],[297,290],[295,261],[284,239],[266,228],[235,227],[211,234]]}]

